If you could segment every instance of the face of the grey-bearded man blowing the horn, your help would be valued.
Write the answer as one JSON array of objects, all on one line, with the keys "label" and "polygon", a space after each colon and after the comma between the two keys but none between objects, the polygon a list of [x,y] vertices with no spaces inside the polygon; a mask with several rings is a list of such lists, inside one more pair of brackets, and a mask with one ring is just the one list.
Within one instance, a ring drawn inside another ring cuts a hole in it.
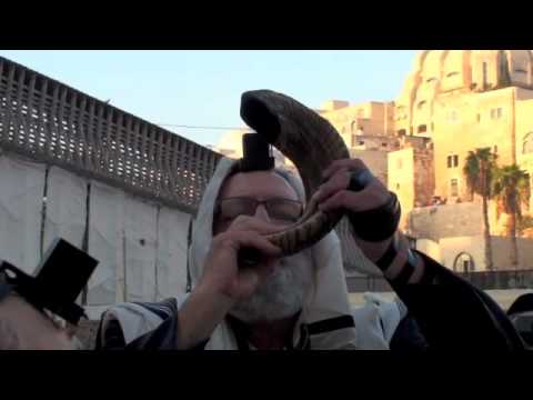
[{"label": "face of the grey-bearded man blowing the horn", "polygon": [[[298,202],[298,194],[289,182],[275,172],[257,171],[238,173],[223,184],[219,201],[224,199],[248,198],[259,201],[286,199],[286,204],[272,206],[269,213],[263,204],[254,210],[253,218],[274,224],[280,229],[290,226],[295,214],[292,202]],[[224,216],[217,214],[213,232],[228,229]],[[312,259],[309,251],[281,259],[274,272],[249,298],[239,301],[231,314],[244,322],[264,322],[291,317],[302,309],[305,290],[312,283]]]}]

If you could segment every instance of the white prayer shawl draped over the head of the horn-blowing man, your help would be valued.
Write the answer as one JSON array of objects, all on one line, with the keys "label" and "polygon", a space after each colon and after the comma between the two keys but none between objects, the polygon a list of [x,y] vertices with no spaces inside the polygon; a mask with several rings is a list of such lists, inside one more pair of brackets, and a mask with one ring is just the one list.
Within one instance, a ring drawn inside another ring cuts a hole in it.
[{"label": "white prayer shawl draped over the head of the horn-blowing man", "polygon": [[[200,203],[199,213],[192,232],[190,249],[190,272],[194,287],[203,273],[203,264],[213,237],[214,202],[222,182],[233,167],[234,160],[222,159],[209,182]],[[298,178],[289,182],[304,201],[304,190]],[[311,248],[315,271],[316,287],[309,288],[305,293],[303,310],[294,329],[294,346],[300,340],[300,324],[312,323],[341,316],[350,316],[348,288],[342,267],[339,238],[334,232]],[[332,332],[311,336],[311,349],[353,349],[355,348],[355,329],[344,328]],[[225,322],[221,323],[207,344],[207,349],[237,349],[235,338]]]}]

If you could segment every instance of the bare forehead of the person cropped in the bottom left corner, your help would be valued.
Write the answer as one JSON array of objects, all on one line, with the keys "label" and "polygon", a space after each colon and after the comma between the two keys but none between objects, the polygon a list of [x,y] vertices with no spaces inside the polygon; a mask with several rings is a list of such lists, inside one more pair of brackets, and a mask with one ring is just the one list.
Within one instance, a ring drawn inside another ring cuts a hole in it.
[{"label": "bare forehead of the person cropped in the bottom left corner", "polygon": [[19,296],[0,302],[0,350],[73,350],[67,330]]}]

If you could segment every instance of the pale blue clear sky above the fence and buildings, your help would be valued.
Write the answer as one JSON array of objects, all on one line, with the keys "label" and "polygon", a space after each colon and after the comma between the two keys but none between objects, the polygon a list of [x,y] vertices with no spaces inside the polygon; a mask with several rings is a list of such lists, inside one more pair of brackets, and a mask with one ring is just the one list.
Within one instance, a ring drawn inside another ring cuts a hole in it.
[{"label": "pale blue clear sky above the fence and buildings", "polygon": [[[191,139],[244,127],[240,96],[271,89],[319,108],[394,100],[415,50],[0,50],[0,56]],[[183,128],[209,127],[209,128]],[[211,128],[213,127],[213,128]],[[220,128],[220,129],[214,129]]]}]

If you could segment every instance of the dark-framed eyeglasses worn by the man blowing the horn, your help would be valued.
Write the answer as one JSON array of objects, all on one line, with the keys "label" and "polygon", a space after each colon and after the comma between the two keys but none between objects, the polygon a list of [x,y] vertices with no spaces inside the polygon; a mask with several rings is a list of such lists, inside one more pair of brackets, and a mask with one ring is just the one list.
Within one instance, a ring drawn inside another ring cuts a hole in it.
[{"label": "dark-framed eyeglasses worn by the man blowing the horn", "polygon": [[218,222],[228,227],[239,216],[253,217],[259,204],[264,207],[270,221],[278,224],[294,223],[303,212],[303,206],[298,200],[272,198],[261,201],[247,197],[233,197],[217,202],[215,217]]}]

